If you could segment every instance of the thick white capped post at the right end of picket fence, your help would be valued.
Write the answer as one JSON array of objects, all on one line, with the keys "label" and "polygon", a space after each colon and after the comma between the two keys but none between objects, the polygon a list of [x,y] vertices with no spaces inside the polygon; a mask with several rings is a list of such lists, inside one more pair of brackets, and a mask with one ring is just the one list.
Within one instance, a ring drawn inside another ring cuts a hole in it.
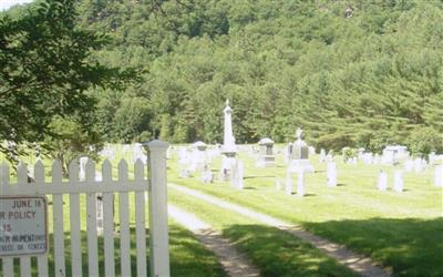
[{"label": "thick white capped post at the right end of picket fence", "polygon": [[[150,247],[151,276],[169,277],[169,249],[166,193],[166,150],[168,143],[158,140],[145,143],[151,164]],[[147,165],[150,167],[150,164]]]}]

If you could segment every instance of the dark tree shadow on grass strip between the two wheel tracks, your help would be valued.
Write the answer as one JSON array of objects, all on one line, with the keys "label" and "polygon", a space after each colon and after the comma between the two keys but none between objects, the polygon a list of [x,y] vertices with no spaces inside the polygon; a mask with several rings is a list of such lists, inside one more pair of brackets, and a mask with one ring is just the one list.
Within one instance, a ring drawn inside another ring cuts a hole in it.
[{"label": "dark tree shadow on grass strip between the two wheel tracks", "polygon": [[268,226],[231,225],[223,235],[245,253],[261,276],[357,276],[297,237]]}]

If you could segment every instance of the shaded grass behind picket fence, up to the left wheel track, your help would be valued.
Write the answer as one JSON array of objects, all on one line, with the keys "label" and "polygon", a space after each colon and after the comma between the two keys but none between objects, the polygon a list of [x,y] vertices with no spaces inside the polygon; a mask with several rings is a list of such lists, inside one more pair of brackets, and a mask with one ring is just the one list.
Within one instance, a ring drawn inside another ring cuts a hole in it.
[{"label": "shaded grass behind picket fence, up to the left wheel track", "polygon": [[[137,276],[136,265],[136,245],[135,245],[135,228],[130,229],[131,233],[131,276]],[[50,252],[49,252],[49,276],[54,276],[54,248],[53,235],[50,234]],[[81,232],[81,249],[82,249],[82,271],[83,276],[87,276],[87,233]],[[99,253],[99,273],[104,274],[104,244],[103,237],[97,239]],[[213,254],[209,253],[196,238],[186,229],[177,226],[169,226],[169,260],[171,276],[179,277],[203,277],[215,276],[224,277],[222,265],[217,261]],[[64,234],[64,276],[72,276],[71,266],[71,239],[70,233]],[[121,250],[120,235],[114,234],[114,263],[115,276],[121,276]],[[38,261],[37,257],[31,257],[32,276],[37,276]],[[0,276],[2,276],[2,267],[0,263]],[[150,232],[146,229],[146,270],[150,275]],[[20,271],[18,258],[14,258],[14,273]]]}]

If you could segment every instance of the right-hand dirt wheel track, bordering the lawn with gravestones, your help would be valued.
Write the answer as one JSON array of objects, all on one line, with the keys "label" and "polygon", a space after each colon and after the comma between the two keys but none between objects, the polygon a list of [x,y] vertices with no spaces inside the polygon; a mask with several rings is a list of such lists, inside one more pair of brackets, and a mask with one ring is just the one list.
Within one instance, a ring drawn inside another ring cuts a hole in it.
[{"label": "right-hand dirt wheel track, bordering the lawn with gravestones", "polygon": [[380,266],[377,266],[375,263],[363,255],[357,254],[354,252],[349,250],[342,245],[334,244],[332,242],[329,242],[326,238],[316,236],[311,233],[308,233],[303,230],[300,226],[291,225],[288,223],[285,223],[282,220],[279,220],[277,218],[274,218],[271,216],[254,212],[249,208],[241,207],[239,205],[219,199],[217,197],[204,194],[202,192],[187,188],[184,186],[179,186],[176,184],[168,184],[169,187],[179,191],[181,193],[187,194],[189,196],[203,199],[207,203],[210,203],[213,205],[216,205],[218,207],[235,212],[237,214],[240,214],[245,217],[254,218],[262,224],[266,224],[268,226],[272,226],[282,230],[286,230],[305,242],[310,243],[318,249],[322,250],[324,254],[328,256],[337,259],[340,264],[346,265],[350,269],[354,270],[356,273],[362,275],[362,276],[368,276],[368,277],[389,277],[391,276],[391,273],[387,271]]}]

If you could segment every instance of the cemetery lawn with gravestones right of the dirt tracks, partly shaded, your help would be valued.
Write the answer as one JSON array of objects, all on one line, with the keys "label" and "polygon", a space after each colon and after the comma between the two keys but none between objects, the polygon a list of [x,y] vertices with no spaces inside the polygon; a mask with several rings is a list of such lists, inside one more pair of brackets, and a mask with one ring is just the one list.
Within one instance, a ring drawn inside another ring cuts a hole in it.
[{"label": "cemetery lawn with gravestones right of the dirt tracks, partly shaded", "polygon": [[[175,160],[168,161],[168,182],[301,225],[313,234],[372,257],[381,266],[391,268],[396,276],[443,276],[443,191],[433,186],[433,171],[405,173],[403,193],[392,189],[379,192],[375,184],[380,166],[348,165],[338,157],[338,186],[331,188],[326,185],[326,164],[319,163],[318,156],[315,156],[311,162],[316,173],[307,175],[306,196],[299,198],[276,188],[276,181],[280,181],[282,186],[285,184],[286,166],[282,161],[278,161],[276,167],[256,168],[254,160],[247,154],[241,154],[240,158],[245,162],[243,191],[231,188],[227,182],[203,184],[197,175],[189,179],[181,178],[179,165]],[[212,165],[216,177],[219,164],[219,161],[214,161]],[[388,172],[389,187],[392,187],[393,168],[388,168]],[[296,175],[292,182],[297,184]],[[172,188],[169,195],[173,202],[178,201]],[[188,208],[196,203],[194,198],[188,202],[183,203]],[[197,215],[203,213],[195,212]],[[219,216],[234,217],[226,211],[214,215],[216,218],[213,220],[218,220]],[[209,217],[210,214],[208,222]],[[219,227],[225,235],[238,236],[241,242],[255,239],[246,229],[269,229],[256,223],[249,226],[243,224],[243,227],[233,222],[230,227]],[[241,230],[245,232],[243,238]],[[268,233],[274,239],[282,236],[275,232],[274,235]],[[276,254],[272,247],[262,252]]]}]

